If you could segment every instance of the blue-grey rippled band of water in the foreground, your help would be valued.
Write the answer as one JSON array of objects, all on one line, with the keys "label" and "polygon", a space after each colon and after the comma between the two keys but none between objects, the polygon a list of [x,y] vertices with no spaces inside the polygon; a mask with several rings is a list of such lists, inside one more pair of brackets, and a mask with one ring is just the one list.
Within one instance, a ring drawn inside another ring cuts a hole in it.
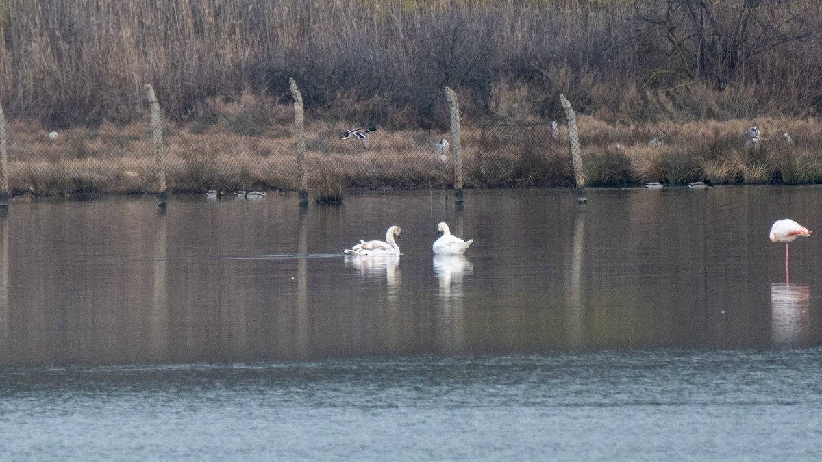
[{"label": "blue-grey rippled band of water in the foreground", "polygon": [[822,350],[2,371],[4,458],[814,460]]}]

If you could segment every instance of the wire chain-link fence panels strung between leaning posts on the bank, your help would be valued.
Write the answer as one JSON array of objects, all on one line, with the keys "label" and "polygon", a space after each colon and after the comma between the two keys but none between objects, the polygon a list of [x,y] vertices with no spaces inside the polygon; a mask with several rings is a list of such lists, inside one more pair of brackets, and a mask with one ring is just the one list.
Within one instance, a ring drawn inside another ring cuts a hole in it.
[{"label": "wire chain-link fence panels strung between leaning posts on the bank", "polygon": [[[157,191],[147,106],[126,122],[61,122],[67,119],[48,109],[6,115],[10,194]],[[306,115],[307,190],[313,195],[333,187],[453,187],[447,130],[363,126],[343,139],[352,128]],[[564,127],[550,122],[463,124],[465,187],[573,184],[567,146]],[[162,151],[169,192],[301,186],[290,104],[247,95],[220,103],[195,122],[164,120]]]}]

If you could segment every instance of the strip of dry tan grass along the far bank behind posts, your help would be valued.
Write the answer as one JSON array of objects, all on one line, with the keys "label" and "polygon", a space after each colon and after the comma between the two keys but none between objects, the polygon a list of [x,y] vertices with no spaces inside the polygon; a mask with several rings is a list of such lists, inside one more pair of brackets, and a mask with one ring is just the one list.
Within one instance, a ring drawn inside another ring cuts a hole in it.
[{"label": "strip of dry tan grass along the far bank behind posts", "polygon": [[[262,104],[214,104],[213,122],[166,127],[167,182],[177,192],[208,189],[294,190],[298,185],[293,134],[287,108],[257,109],[265,123],[238,130],[232,118]],[[822,182],[822,126],[812,119],[757,118],[707,122],[608,123],[587,115],[578,121],[589,186],[644,182],[685,184],[710,178],[716,184],[802,184]],[[746,128],[760,127],[756,153],[745,149]],[[37,121],[12,121],[10,185],[38,195],[154,191],[155,164],[148,123],[102,122],[72,127],[57,139]],[[509,124],[504,132],[465,123],[462,133],[467,187],[571,186],[567,133],[556,138],[533,124]],[[433,151],[446,132],[380,128],[370,149],[340,140],[341,122],[307,124],[309,190],[319,201],[339,201],[349,187],[447,187],[453,163],[442,164]],[[781,134],[789,132],[790,144]],[[502,134],[501,134],[502,133]],[[549,132],[548,132],[549,133]],[[490,135],[489,135],[490,134]],[[662,137],[663,146],[649,141]],[[449,153],[452,155],[453,153]]]}]

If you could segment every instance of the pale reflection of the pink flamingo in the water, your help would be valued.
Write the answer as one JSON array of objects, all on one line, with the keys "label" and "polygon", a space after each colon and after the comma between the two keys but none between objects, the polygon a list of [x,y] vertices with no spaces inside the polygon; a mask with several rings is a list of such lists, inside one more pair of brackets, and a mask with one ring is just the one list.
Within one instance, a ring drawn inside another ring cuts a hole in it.
[{"label": "pale reflection of the pink flamingo in the water", "polygon": [[810,289],[771,284],[771,335],[774,344],[801,344],[810,330]]}]

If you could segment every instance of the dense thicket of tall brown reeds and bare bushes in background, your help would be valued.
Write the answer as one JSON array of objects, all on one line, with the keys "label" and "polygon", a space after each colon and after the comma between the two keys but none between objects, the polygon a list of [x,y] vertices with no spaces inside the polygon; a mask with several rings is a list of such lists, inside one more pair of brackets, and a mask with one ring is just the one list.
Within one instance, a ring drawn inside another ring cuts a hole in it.
[{"label": "dense thicket of tall brown reeds and bare bushes in background", "polygon": [[469,116],[805,117],[822,105],[822,2],[0,1],[0,104],[50,127],[129,122],[151,83],[178,122],[209,99],[288,99],[385,127]]}]

